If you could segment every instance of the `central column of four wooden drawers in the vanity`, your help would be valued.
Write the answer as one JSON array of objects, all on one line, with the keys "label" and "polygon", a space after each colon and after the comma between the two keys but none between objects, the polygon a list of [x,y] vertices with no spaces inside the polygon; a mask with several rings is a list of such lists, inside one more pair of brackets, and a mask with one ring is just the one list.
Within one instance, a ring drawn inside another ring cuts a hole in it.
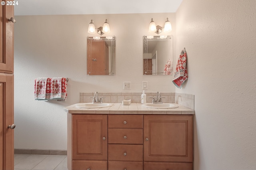
[{"label": "central column of four wooden drawers in the vanity", "polygon": [[143,115],[108,115],[108,170],[143,170]]}]

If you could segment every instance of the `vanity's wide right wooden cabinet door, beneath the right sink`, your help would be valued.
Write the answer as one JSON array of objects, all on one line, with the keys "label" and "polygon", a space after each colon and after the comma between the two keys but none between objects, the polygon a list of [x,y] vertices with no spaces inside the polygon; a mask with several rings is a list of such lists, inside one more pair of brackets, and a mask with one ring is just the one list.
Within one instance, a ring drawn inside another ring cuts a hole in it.
[{"label": "vanity's wide right wooden cabinet door, beneath the right sink", "polygon": [[144,115],[144,161],[192,162],[192,115]]}]

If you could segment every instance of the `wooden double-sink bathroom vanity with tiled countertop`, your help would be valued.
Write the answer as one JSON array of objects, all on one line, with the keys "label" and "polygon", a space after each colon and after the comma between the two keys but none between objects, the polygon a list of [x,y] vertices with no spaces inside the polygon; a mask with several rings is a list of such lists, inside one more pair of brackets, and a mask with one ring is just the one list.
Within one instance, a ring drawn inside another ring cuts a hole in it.
[{"label": "wooden double-sink bathroom vanity with tiled countertop", "polygon": [[193,170],[194,110],[140,103],[68,113],[69,170]]}]

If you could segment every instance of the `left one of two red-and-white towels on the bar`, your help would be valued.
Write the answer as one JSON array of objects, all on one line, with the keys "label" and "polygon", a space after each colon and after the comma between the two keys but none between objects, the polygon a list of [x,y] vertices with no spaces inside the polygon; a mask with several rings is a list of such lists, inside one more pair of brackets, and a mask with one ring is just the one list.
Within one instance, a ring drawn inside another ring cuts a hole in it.
[{"label": "left one of two red-and-white towels on the bar", "polygon": [[50,78],[39,77],[35,79],[34,84],[34,99],[35,100],[48,100],[50,94]]}]

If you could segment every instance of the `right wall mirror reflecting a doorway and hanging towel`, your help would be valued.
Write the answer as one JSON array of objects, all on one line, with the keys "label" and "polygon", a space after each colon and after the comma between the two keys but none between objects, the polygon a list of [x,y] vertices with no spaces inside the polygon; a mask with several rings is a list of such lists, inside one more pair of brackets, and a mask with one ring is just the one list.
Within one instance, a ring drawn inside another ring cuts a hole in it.
[{"label": "right wall mirror reflecting a doorway and hanging towel", "polygon": [[172,36],[143,36],[144,75],[172,75],[172,61]]}]

